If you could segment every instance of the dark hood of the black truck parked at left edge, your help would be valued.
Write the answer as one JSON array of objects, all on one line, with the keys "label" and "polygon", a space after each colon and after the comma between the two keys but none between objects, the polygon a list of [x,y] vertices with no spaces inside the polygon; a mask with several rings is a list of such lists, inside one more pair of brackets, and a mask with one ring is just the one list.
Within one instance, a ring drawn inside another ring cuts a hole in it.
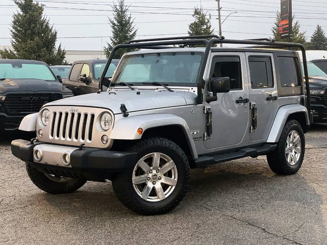
[{"label": "dark hood of the black truck parked at left edge", "polygon": [[58,91],[62,93],[71,92],[58,81],[45,81],[42,79],[5,79],[0,80],[0,94],[7,92],[46,92]]}]

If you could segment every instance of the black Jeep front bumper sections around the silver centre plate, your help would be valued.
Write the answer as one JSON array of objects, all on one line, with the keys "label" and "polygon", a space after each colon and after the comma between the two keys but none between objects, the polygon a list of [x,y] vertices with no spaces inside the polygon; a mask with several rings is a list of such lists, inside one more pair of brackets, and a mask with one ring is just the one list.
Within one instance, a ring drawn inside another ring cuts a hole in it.
[{"label": "black Jeep front bumper sections around the silver centre plate", "polygon": [[33,149],[35,145],[43,144],[17,139],[11,142],[12,154],[27,162],[37,170],[52,175],[63,177],[105,181],[112,180],[122,171],[133,168],[136,163],[137,153],[106,151],[97,148],[76,148],[71,153],[71,166],[62,167],[50,164],[38,163],[33,160]]}]

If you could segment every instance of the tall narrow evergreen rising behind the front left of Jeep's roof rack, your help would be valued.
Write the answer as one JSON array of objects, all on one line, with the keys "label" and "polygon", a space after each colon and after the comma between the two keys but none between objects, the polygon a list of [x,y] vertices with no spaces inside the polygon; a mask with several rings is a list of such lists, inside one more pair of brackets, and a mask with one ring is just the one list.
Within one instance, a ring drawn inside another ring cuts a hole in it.
[{"label": "tall narrow evergreen rising behind the front left of Jeep's roof rack", "polygon": [[[113,4],[113,19],[109,19],[109,24],[112,30],[112,37],[110,37],[111,44],[107,42],[108,46],[104,47],[104,52],[108,58],[112,48],[117,44],[122,44],[133,40],[136,36],[137,29],[134,26],[134,19],[127,11],[129,6],[125,5],[124,0],[119,0],[118,4]],[[114,54],[114,59],[120,59],[124,53],[134,51],[131,48],[120,48]]]}]

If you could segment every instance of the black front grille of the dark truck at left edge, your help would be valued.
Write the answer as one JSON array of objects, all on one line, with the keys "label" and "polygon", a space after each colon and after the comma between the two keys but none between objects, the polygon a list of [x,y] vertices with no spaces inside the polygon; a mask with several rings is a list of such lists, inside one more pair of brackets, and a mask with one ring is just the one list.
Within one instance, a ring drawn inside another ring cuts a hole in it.
[{"label": "black front grille of the dark truck at left edge", "polygon": [[30,114],[38,112],[45,103],[60,99],[61,93],[8,94],[5,111],[8,114]]}]

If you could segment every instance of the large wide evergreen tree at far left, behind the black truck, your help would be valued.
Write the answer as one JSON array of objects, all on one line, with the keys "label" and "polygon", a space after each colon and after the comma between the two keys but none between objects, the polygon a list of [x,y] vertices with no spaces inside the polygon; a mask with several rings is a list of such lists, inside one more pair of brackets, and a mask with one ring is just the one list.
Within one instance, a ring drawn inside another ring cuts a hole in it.
[{"label": "large wide evergreen tree at far left, behind the black truck", "polygon": [[48,64],[64,61],[66,52],[59,44],[56,51],[57,31],[43,16],[43,5],[33,0],[14,0],[19,10],[11,23],[13,50],[0,51],[3,59],[40,60]]}]

